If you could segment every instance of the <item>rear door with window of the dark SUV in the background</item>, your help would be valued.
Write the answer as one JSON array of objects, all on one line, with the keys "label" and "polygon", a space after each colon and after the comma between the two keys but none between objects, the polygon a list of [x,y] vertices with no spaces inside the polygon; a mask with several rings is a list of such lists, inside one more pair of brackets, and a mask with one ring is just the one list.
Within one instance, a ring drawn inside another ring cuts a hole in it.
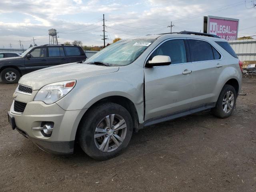
[{"label": "rear door with window of the dark SUV in the background", "polygon": [[52,46],[48,47],[48,65],[55,66],[66,63],[66,57],[63,47]]}]

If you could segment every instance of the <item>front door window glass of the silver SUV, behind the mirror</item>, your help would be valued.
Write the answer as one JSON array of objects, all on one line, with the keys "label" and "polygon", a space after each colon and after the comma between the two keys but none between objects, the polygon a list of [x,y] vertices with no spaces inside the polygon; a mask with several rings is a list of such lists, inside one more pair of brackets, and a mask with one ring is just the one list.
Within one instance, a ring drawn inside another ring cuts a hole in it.
[{"label": "front door window glass of the silver SUV, behind the mirror", "polygon": [[187,56],[184,40],[178,39],[164,42],[151,54],[149,60],[152,60],[157,55],[170,56],[171,64],[186,63]]}]

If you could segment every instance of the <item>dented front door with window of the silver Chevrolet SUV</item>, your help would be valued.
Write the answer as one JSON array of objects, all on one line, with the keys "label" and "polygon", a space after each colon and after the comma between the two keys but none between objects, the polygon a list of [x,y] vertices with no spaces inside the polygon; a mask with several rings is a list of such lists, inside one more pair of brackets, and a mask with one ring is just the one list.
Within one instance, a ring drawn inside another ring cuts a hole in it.
[{"label": "dented front door with window of the silver Chevrolet SUV", "polygon": [[156,55],[170,56],[171,64],[144,69],[145,121],[190,109],[194,69],[187,52],[185,40],[168,40],[149,57],[148,60]]}]

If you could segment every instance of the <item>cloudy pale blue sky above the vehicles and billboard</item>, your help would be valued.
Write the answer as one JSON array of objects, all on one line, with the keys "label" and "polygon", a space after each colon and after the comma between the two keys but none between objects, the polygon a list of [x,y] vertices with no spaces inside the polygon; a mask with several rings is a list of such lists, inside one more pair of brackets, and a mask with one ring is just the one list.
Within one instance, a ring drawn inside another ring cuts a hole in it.
[{"label": "cloudy pale blue sky above the vehicles and billboard", "polygon": [[[239,19],[238,37],[256,35],[256,0],[0,0],[0,48],[47,44],[55,28],[60,43],[82,41],[102,46],[105,30],[112,43],[122,39],[182,30],[200,32],[203,16]],[[255,37],[254,37],[255,38]]]}]

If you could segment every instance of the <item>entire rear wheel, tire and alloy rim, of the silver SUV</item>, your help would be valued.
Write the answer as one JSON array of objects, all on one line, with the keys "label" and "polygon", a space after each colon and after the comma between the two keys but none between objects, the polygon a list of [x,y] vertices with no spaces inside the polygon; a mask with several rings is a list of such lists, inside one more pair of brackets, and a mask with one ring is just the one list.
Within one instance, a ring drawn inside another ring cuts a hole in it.
[{"label": "entire rear wheel, tire and alloy rim, of the silver SUV", "polygon": [[236,106],[236,90],[231,85],[224,85],[212,114],[219,118],[229,117]]}]

